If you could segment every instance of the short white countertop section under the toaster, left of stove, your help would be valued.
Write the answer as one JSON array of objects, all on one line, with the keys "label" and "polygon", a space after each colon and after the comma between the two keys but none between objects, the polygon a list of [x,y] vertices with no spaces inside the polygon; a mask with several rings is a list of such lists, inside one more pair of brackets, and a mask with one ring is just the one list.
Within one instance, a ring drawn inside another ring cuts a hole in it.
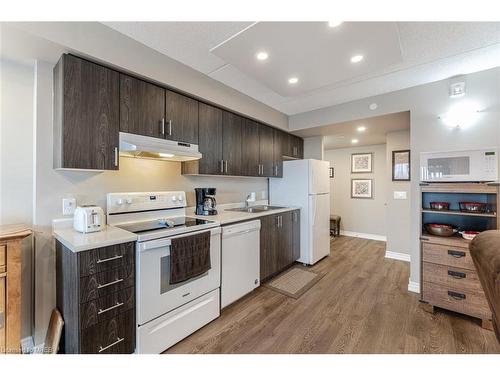
[{"label": "short white countertop section under the toaster, left of stove", "polygon": [[106,225],[100,232],[80,233],[71,228],[57,228],[54,237],[71,251],[77,253],[137,240],[137,235],[126,230]]}]

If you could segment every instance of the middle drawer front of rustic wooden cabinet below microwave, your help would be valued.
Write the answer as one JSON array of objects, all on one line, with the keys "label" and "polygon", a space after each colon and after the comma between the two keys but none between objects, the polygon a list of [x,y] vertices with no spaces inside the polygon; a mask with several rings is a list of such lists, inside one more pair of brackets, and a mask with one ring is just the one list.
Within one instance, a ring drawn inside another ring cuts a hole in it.
[{"label": "middle drawer front of rustic wooden cabinet below microwave", "polygon": [[445,285],[448,288],[467,289],[471,292],[483,291],[476,271],[465,268],[424,262],[422,275],[424,281]]}]

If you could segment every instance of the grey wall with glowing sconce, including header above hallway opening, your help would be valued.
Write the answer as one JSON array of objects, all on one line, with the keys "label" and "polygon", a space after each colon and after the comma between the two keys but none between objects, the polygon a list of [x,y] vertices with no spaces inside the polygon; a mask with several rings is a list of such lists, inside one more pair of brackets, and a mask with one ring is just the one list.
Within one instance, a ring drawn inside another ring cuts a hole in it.
[{"label": "grey wall with glowing sconce, including header above hallway opening", "polygon": [[[448,96],[448,80],[378,95],[337,106],[305,112],[290,117],[291,130],[328,125],[337,122],[410,111],[410,144],[412,151],[410,254],[411,276],[420,282],[420,196],[419,154],[423,151],[470,149],[500,146],[500,68],[466,76],[467,95],[460,99]],[[449,129],[438,119],[440,114],[459,102],[473,101],[481,109],[478,121],[468,129]],[[370,103],[378,108],[371,111]]]}]

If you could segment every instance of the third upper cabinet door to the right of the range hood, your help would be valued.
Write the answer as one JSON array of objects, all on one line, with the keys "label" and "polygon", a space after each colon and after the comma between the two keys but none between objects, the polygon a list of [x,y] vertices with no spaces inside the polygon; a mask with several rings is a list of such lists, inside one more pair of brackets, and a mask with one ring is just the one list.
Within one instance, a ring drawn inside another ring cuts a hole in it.
[{"label": "third upper cabinet door to the right of the range hood", "polygon": [[259,176],[259,124],[245,119],[241,131],[241,169],[243,176]]}]

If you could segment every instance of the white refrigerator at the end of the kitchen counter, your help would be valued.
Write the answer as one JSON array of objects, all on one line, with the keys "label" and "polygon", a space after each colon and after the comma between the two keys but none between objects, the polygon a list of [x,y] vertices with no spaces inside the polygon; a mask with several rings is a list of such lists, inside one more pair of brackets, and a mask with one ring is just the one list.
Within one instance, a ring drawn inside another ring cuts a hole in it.
[{"label": "white refrigerator at the end of the kitchen counter", "polygon": [[283,162],[283,178],[269,179],[274,206],[300,207],[299,262],[314,264],[330,254],[330,164],[315,159]]}]

